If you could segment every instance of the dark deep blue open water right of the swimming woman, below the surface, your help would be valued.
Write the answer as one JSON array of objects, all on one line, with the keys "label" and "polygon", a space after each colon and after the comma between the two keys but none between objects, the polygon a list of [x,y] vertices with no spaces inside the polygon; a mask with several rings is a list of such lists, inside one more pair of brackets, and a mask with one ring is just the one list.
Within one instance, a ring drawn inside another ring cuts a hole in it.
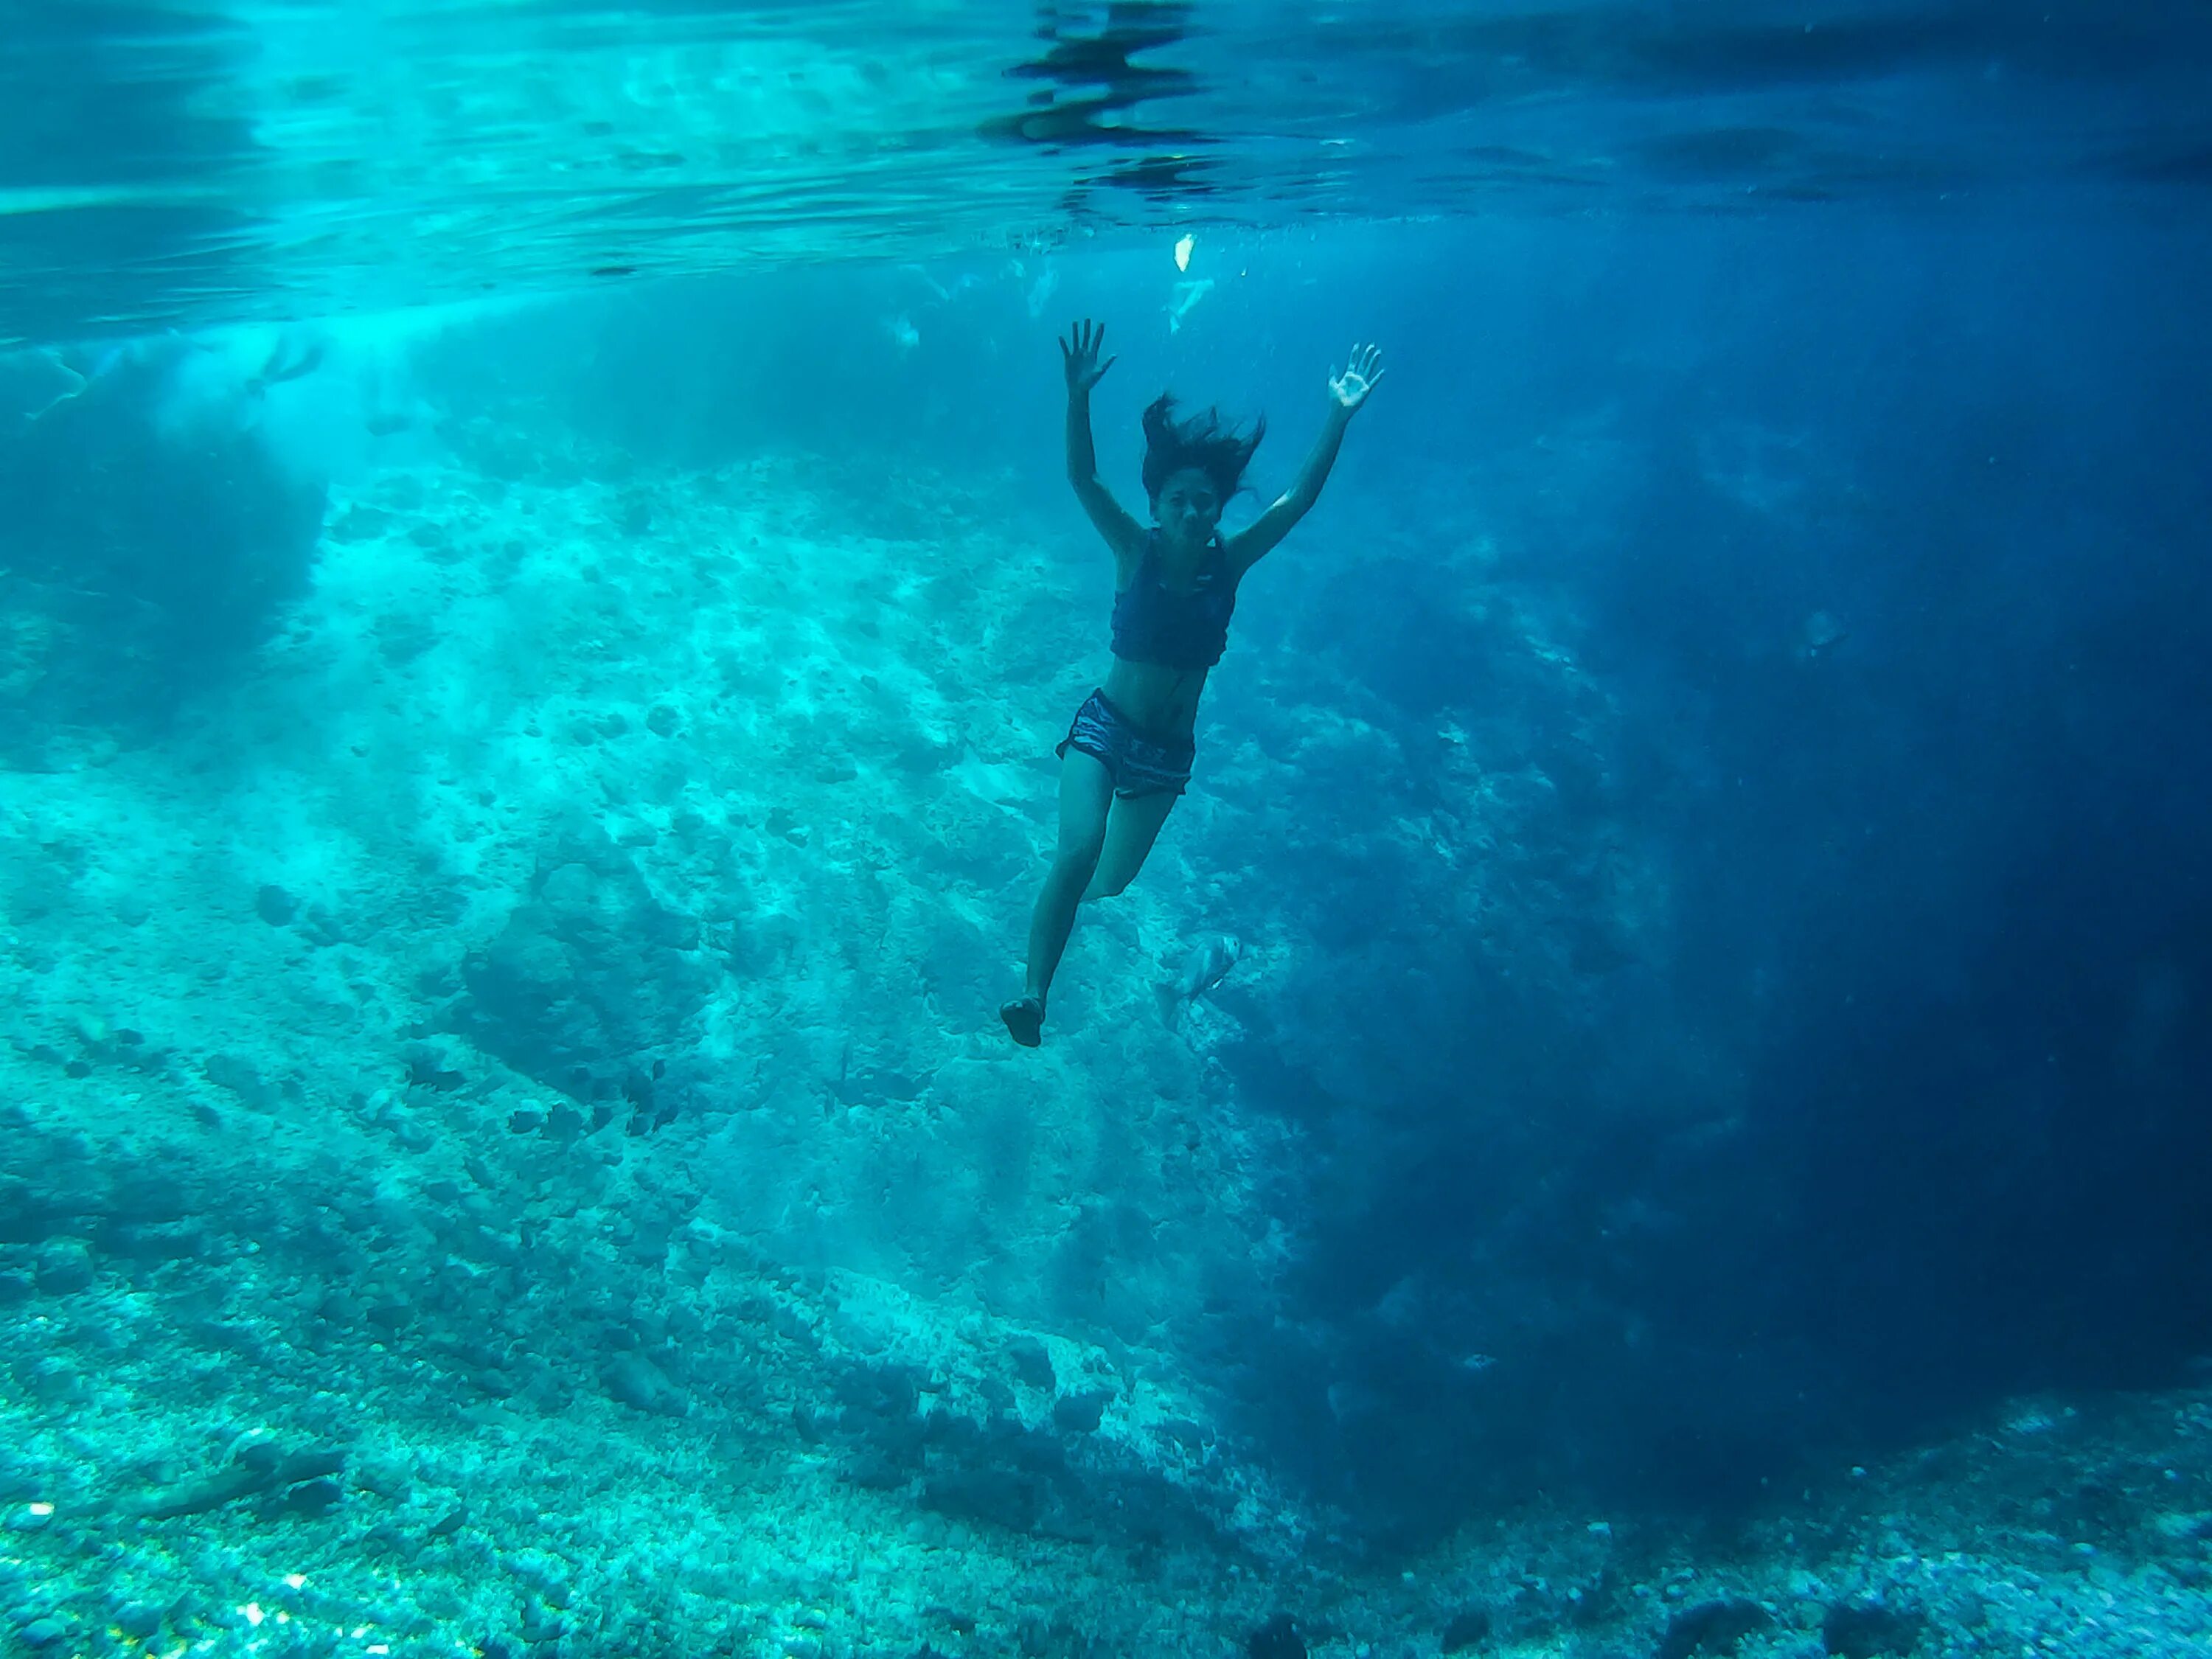
[{"label": "dark deep blue open water right of the swimming woman, below the surface", "polygon": [[[2188,197],[2081,192],[1343,228],[1212,252],[1252,276],[1175,334],[1157,250],[1066,270],[1053,314],[1126,330],[1119,434],[1102,389],[1124,489],[1157,385],[1272,416],[1265,498],[1329,347],[1394,356],[1210,703],[1234,741],[1325,659],[1407,754],[1389,783],[1294,783],[1294,827],[1219,849],[1239,907],[1323,945],[1223,991],[1252,1018],[1241,1097],[1310,1135],[1285,1201],[1310,1323],[1214,1332],[1285,1455],[1385,1509],[1573,1480],[1710,1502],[1832,1440],[2190,1374],[2212,1316],[2208,252]],[[1006,469],[1068,518],[1037,436],[1048,321],[1009,319],[1009,279],[916,312],[896,365],[876,338],[792,345],[883,283],[606,301],[577,323],[593,372],[549,385],[644,451],[796,429]],[[761,312],[792,319],[776,341]],[[675,378],[670,332],[708,343]],[[801,400],[728,411],[719,343]],[[1471,533],[1599,717],[1513,684],[1447,557]],[[1053,555],[1086,557],[1071,540]],[[1522,898],[1537,931],[1637,909],[1606,860],[1666,889],[1626,922],[1641,942],[1564,987],[1478,951],[1378,845],[1433,805],[1433,732],[1500,719],[1573,836]],[[1411,1327],[1378,1318],[1394,1287]],[[1517,1363],[1475,1391],[1460,1360],[1500,1347]],[[1343,1420],[1347,1378],[1389,1405]],[[1464,1469],[1440,1482],[1447,1449]]]}]

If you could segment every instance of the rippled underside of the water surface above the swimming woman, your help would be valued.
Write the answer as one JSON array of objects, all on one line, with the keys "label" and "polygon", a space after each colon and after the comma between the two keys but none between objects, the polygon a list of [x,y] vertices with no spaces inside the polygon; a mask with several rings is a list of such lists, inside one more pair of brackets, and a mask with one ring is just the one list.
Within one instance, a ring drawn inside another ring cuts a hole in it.
[{"label": "rippled underside of the water surface above the swimming woman", "polygon": [[1933,204],[2205,168],[2188,4],[20,4],[46,343],[1133,228]]}]

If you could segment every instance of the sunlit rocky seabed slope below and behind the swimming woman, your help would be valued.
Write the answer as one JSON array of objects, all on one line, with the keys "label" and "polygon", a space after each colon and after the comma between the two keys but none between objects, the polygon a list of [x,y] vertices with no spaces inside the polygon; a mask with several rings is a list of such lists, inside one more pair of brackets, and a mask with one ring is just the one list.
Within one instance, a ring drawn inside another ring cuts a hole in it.
[{"label": "sunlit rocky seabed slope below and behind the swimming woman", "polygon": [[1652,993],[1690,929],[1621,695],[1471,533],[1480,686],[1263,659],[1252,606],[1208,792],[1015,1060],[1097,633],[1046,538],[936,476],[856,526],[880,469],[546,453],[336,491],[281,648],[0,772],[0,1639],[2212,1639],[2197,1383],[1854,1462],[1792,1394],[1836,1356],[1650,1336],[1652,1263],[1772,1237],[1747,1086]]}]

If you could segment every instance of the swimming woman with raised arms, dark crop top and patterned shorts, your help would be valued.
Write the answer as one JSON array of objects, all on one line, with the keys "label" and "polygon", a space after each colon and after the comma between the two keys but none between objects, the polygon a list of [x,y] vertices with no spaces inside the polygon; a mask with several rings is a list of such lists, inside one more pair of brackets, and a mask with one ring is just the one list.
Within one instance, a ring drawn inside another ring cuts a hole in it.
[{"label": "swimming woman with raised arms, dark crop top and patterned shorts", "polygon": [[1035,1048],[1044,998],[1086,898],[1113,898],[1144,867],[1159,825],[1190,783],[1199,692],[1221,661],[1237,584],[1314,507],[1336,465],[1345,427],[1383,378],[1383,354],[1354,345],[1329,376],[1329,414],[1296,482],[1234,535],[1221,509],[1243,484],[1267,422],[1250,436],[1217,411],[1177,420],[1161,394],[1144,411],[1144,493],[1152,524],[1139,524],[1099,482],[1091,445],[1091,387],[1113,367],[1099,361],[1102,325],[1077,323],[1060,343],[1068,376],[1068,482],[1113,549],[1113,668],[1060,743],[1060,847],[1029,922],[1029,984],[1000,1009],[1006,1031]]}]

